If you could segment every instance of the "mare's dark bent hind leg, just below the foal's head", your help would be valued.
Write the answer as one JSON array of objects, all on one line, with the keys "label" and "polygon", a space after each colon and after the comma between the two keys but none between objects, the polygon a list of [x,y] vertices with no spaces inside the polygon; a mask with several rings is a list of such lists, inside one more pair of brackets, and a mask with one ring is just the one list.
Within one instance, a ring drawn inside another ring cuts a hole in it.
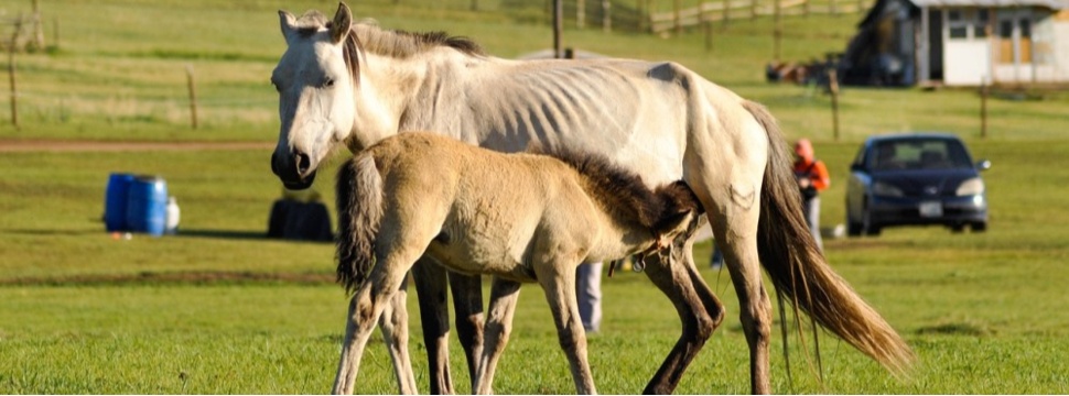
[{"label": "mare's dark bent hind leg, just below the foal's head", "polygon": [[656,258],[645,271],[672,301],[683,327],[672,351],[643,391],[646,394],[674,392],[683,372],[724,319],[723,305],[694,266],[693,239],[677,243],[667,263]]}]

